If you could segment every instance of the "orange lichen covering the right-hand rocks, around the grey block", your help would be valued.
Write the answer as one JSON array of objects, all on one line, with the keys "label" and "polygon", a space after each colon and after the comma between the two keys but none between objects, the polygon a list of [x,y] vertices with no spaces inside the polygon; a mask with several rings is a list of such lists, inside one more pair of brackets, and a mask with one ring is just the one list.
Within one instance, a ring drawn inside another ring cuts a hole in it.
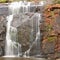
[{"label": "orange lichen covering the right-hand rocks, around the grey block", "polygon": [[[42,47],[45,48],[45,43],[48,43],[49,39],[52,39],[51,36],[55,37],[55,52],[60,51],[60,26],[57,23],[56,18],[60,17],[60,4],[52,4],[52,5],[47,5],[44,10],[44,24],[45,24],[45,30],[44,35],[43,35],[43,41],[42,41]],[[51,25],[51,26],[49,26]],[[50,30],[50,28],[52,29]],[[47,33],[46,33],[47,32]]]}]

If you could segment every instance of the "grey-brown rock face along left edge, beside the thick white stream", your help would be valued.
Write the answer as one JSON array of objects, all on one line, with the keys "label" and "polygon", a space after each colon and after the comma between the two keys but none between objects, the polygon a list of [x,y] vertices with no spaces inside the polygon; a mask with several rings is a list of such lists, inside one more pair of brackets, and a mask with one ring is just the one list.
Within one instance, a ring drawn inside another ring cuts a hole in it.
[{"label": "grey-brown rock face along left edge, beside the thick white stream", "polygon": [[7,8],[0,4],[0,56],[5,54]]}]

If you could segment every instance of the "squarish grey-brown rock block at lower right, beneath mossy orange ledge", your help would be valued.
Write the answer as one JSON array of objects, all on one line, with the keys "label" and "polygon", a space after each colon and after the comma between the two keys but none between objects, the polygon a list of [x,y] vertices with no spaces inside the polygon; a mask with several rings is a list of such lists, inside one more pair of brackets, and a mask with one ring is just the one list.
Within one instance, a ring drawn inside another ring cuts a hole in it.
[{"label": "squarish grey-brown rock block at lower right, beneath mossy orange ledge", "polygon": [[44,43],[44,48],[43,48],[44,54],[54,53],[55,52],[54,47],[55,47],[55,42],[46,42],[46,43]]}]

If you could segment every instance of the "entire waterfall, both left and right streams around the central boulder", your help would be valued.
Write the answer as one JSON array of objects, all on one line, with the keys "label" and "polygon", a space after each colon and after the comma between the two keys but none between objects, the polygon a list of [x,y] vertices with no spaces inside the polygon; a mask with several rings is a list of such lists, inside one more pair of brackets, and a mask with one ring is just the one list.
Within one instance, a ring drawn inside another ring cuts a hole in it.
[{"label": "entire waterfall, both left and right streams around the central boulder", "polygon": [[[40,16],[40,13],[34,13],[34,14],[32,14],[32,17],[27,16],[27,18],[25,18],[24,14],[25,13],[30,13],[30,5],[31,5],[31,2],[20,1],[20,2],[11,3],[8,6],[10,15],[7,17],[8,22],[7,22],[6,49],[5,49],[5,56],[7,56],[7,57],[14,57],[14,56],[19,57],[19,56],[22,55],[21,44],[19,42],[16,42],[17,28],[11,26],[11,23],[14,19],[14,15],[19,15],[20,14],[20,18],[18,19],[18,20],[20,20],[20,23],[18,22],[20,25],[24,24],[26,21],[29,21],[29,20],[32,21],[31,22],[31,25],[32,25],[31,39],[29,39],[29,40],[31,40],[31,42],[33,40],[33,31],[34,31],[34,29],[36,29],[35,40],[32,43],[29,42],[30,43],[29,49],[27,49],[22,56],[23,57],[26,57],[27,55],[29,56],[30,55],[29,54],[30,50],[31,50],[31,48],[33,47],[34,44],[37,43],[37,46],[38,46],[38,42],[40,41],[39,21],[40,21],[41,16]],[[43,4],[41,3],[40,6],[42,6],[42,5]],[[35,16],[37,17],[36,20],[33,19],[33,18],[35,18]],[[21,19],[22,17],[24,17],[24,19]],[[34,21],[36,22],[35,26],[33,26]],[[11,38],[11,36],[12,36],[12,38]]]}]

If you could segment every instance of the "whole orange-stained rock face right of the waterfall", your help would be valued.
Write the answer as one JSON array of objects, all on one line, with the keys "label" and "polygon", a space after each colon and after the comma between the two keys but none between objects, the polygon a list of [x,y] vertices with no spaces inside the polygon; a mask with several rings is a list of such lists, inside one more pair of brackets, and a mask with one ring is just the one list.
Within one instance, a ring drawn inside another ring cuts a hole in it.
[{"label": "whole orange-stained rock face right of the waterfall", "polygon": [[54,54],[53,58],[60,57],[60,4],[49,5],[43,15],[44,22],[40,26],[42,51],[48,56]]}]

